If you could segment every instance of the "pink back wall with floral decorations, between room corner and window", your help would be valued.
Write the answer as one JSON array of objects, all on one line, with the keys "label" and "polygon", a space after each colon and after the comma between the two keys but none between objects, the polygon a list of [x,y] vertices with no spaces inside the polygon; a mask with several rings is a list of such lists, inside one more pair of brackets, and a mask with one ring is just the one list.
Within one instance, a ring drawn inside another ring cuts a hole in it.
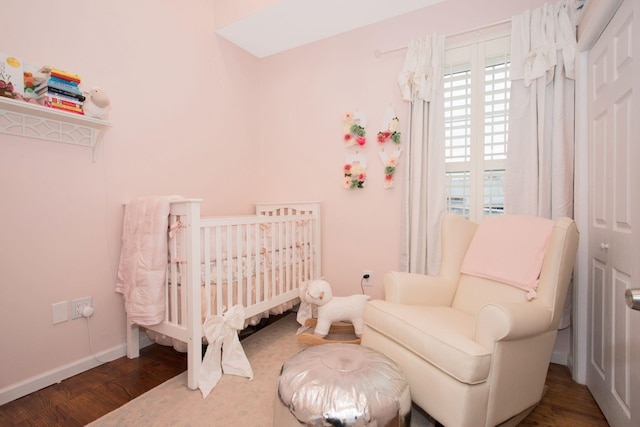
[{"label": "pink back wall with floral decorations, between room corner and window", "polygon": [[[434,32],[454,34],[510,18],[542,1],[447,0],[415,13],[367,26],[260,61],[259,139],[266,199],[321,200],[324,208],[323,268],[338,294],[360,292],[363,270],[373,270],[373,287],[382,297],[382,276],[399,268],[401,157],[396,188],[383,188],[383,167],[375,134],[392,104],[407,136],[409,104],[400,97],[397,76],[405,51],[376,58],[374,52],[407,46]],[[366,113],[369,143],[360,150],[369,167],[363,190],[341,186],[345,148],[342,115]],[[386,144],[389,149],[389,143]],[[401,144],[402,146],[402,144]],[[404,154],[403,154],[404,155]]]}]

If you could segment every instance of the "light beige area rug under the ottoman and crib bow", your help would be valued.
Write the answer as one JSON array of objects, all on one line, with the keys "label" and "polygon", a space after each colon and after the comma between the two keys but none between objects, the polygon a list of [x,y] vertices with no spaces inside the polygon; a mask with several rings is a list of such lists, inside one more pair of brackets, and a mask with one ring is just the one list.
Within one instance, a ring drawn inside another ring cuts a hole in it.
[{"label": "light beige area rug under the ottoman and crib bow", "polygon": [[[242,340],[253,380],[223,375],[203,399],[199,390],[187,388],[184,372],[89,426],[271,426],[280,368],[291,356],[309,347],[298,343],[298,326],[293,313]],[[433,424],[414,408],[411,425]]]}]

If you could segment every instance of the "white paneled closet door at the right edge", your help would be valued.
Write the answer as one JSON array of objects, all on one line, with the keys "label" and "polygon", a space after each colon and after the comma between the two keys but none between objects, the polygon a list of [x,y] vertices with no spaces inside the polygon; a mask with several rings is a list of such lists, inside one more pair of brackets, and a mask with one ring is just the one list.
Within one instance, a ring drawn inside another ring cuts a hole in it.
[{"label": "white paneled closet door at the right edge", "polygon": [[625,304],[640,287],[637,3],[623,2],[589,53],[587,386],[616,427],[640,425],[640,311]]}]

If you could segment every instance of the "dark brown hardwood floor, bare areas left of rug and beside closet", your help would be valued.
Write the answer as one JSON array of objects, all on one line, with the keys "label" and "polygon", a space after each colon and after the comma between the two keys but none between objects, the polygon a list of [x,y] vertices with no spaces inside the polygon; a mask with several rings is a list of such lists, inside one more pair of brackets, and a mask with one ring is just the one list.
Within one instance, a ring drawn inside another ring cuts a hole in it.
[{"label": "dark brown hardwood floor, bare areas left of rug and beside closet", "polygon": [[[184,354],[157,344],[0,406],[1,426],[83,426],[185,371]],[[589,390],[552,364],[541,404],[521,426],[608,426]],[[195,393],[195,392],[194,392]]]}]

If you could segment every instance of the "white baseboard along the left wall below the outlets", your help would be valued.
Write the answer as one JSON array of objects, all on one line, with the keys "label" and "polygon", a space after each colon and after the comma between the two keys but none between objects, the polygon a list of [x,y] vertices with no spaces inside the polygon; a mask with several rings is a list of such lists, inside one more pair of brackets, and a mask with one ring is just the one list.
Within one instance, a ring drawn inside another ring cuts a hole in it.
[{"label": "white baseboard along the left wall below the outlets", "polygon": [[[147,347],[151,344],[153,344],[153,341],[149,339],[147,334],[140,334],[141,348]],[[126,355],[126,344],[117,345],[108,350],[97,353],[95,357],[94,355],[91,355],[59,368],[51,369],[50,371],[28,378],[19,383],[4,387],[3,389],[0,389],[0,405],[4,405],[5,403],[9,403],[12,400],[19,399],[27,394],[49,387],[50,385],[60,383],[74,375],[78,375],[84,371],[95,368],[96,366],[100,366],[103,363],[110,362]]]}]

